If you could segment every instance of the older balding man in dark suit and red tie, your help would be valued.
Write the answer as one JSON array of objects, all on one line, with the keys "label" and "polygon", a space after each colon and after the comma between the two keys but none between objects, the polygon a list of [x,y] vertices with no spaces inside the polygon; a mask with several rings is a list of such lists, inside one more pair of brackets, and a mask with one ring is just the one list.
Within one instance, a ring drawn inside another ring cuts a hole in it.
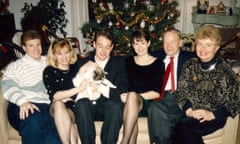
[{"label": "older balding man in dark suit and red tie", "polygon": [[[161,95],[156,101],[150,102],[148,108],[151,143],[169,144],[172,130],[183,115],[173,93],[177,88],[182,65],[194,57],[194,53],[181,51],[181,46],[181,33],[176,29],[169,29],[163,33],[163,50],[153,54],[163,60],[166,71]],[[168,68],[168,65],[171,65],[171,68]]]}]

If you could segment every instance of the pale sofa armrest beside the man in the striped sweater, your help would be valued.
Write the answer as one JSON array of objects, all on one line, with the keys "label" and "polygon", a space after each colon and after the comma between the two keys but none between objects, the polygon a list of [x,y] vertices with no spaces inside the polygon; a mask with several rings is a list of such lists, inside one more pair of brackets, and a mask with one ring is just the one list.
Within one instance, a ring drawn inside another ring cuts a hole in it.
[{"label": "pale sofa armrest beside the man in the striped sweater", "polygon": [[[0,78],[1,80],[1,78]],[[1,143],[7,144],[8,142],[8,134],[9,134],[9,123],[8,123],[8,118],[7,118],[7,105],[8,102],[4,99],[2,95],[2,91],[0,88],[0,138],[1,138]]]}]

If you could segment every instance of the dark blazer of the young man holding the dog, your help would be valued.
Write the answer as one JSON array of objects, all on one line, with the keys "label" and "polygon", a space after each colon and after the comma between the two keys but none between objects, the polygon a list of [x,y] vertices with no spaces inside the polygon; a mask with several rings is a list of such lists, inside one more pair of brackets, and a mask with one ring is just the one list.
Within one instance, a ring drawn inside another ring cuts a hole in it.
[{"label": "dark blazer of the young man holding the dog", "polygon": [[[95,53],[87,58],[80,59],[80,66],[89,60],[94,60]],[[120,102],[120,94],[127,92],[128,90],[128,79],[125,65],[125,57],[122,56],[110,56],[104,71],[107,72],[106,78],[111,81],[117,88],[110,88],[110,100]]]}]

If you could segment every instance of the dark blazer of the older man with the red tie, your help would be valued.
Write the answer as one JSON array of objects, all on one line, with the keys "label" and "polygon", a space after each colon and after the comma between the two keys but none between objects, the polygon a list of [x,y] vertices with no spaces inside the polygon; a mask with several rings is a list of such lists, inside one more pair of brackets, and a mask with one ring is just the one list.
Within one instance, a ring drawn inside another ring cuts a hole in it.
[{"label": "dark blazer of the older man with the red tie", "polygon": [[[164,52],[163,49],[160,49],[159,51],[155,51],[152,53],[153,56],[158,57],[159,59],[161,59],[162,61],[164,60],[164,58],[166,57],[166,53]],[[179,79],[181,71],[182,71],[182,66],[183,64],[193,58],[196,57],[196,54],[190,51],[183,51],[180,50],[180,53],[178,55],[178,65],[177,65],[177,79]]]}]

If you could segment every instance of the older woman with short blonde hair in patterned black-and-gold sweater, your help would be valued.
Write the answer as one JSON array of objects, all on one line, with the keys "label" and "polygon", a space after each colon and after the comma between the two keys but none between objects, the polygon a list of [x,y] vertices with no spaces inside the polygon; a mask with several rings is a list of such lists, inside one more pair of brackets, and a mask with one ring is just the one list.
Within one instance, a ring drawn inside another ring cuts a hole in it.
[{"label": "older woman with short blonde hair in patterned black-and-gold sweater", "polygon": [[176,91],[185,117],[176,125],[173,144],[203,144],[202,136],[222,128],[240,110],[240,83],[217,56],[221,35],[212,25],[196,33],[196,54],[185,63]]}]

